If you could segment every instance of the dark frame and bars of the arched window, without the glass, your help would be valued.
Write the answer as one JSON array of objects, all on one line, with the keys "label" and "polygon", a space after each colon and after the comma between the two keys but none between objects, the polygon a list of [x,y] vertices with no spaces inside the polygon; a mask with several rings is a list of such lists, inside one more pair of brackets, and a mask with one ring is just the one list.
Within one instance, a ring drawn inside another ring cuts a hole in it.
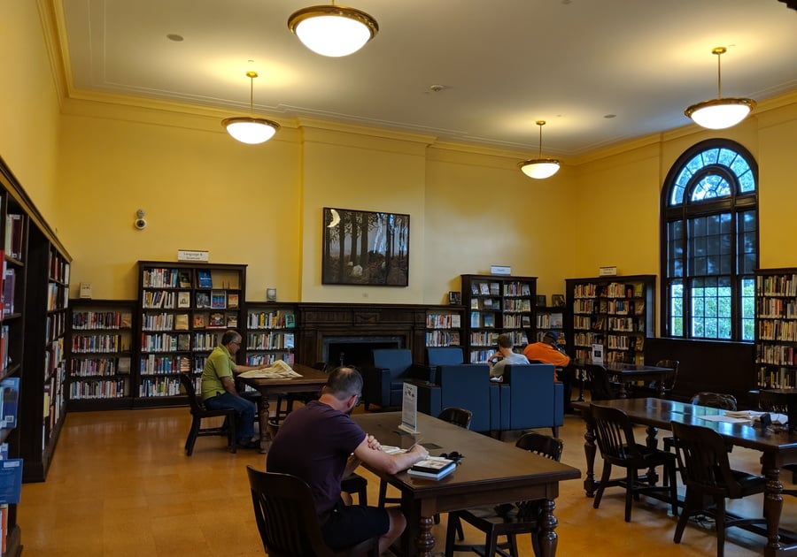
[{"label": "dark frame and bars of the arched window, without the glass", "polygon": [[[677,186],[676,180],[680,173],[684,170],[685,165],[693,160],[695,156],[700,153],[711,149],[730,149],[738,156],[741,156],[747,162],[750,172],[753,175],[754,189],[752,192],[741,192],[739,189],[739,179],[737,174],[733,172],[725,164],[714,163],[706,164],[699,171],[688,180],[685,187],[683,200],[677,205],[671,205],[674,190]],[[704,199],[699,202],[692,201],[693,191],[696,185],[707,175],[719,175],[725,179],[731,187],[731,195],[719,198]],[[753,339],[743,340],[744,320],[742,309],[744,301],[742,299],[742,279],[749,277],[754,279],[754,270],[743,272],[740,271],[739,258],[742,254],[742,234],[743,230],[739,227],[739,217],[747,210],[754,210],[755,217],[755,263],[754,269],[760,266],[761,258],[761,242],[760,242],[760,209],[758,203],[758,195],[760,190],[760,182],[758,177],[758,163],[754,156],[744,146],[736,141],[729,139],[714,138],[695,143],[689,149],[686,149],[681,156],[678,156],[675,163],[669,169],[664,183],[662,185],[661,202],[660,202],[660,276],[661,276],[661,308],[660,313],[660,336],[672,339],[689,339],[689,340],[716,340],[720,342],[753,342]],[[728,274],[710,274],[710,275],[697,275],[694,274],[694,254],[693,248],[690,246],[690,222],[695,217],[706,217],[710,215],[719,215],[722,213],[731,214],[731,226],[733,238],[731,248],[731,273]],[[679,240],[680,248],[684,254],[682,258],[683,274],[681,277],[669,276],[669,224],[672,222],[681,222],[683,227],[683,238]],[[731,279],[731,338],[721,339],[713,337],[698,337],[693,336],[693,308],[692,308],[692,288],[693,279],[708,278],[708,277],[730,277]],[[683,285],[683,334],[674,334],[672,331],[672,303],[670,297],[670,287],[674,283]]]}]

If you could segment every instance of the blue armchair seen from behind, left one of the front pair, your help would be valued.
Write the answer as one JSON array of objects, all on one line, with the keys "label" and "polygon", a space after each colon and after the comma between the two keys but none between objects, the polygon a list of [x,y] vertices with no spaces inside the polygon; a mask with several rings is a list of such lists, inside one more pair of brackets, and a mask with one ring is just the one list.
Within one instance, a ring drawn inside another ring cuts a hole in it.
[{"label": "blue armchair seen from behind, left one of the front pair", "polygon": [[418,411],[437,416],[447,407],[470,410],[473,431],[492,431],[499,426],[499,385],[491,384],[485,363],[437,366],[435,383],[418,384]]}]

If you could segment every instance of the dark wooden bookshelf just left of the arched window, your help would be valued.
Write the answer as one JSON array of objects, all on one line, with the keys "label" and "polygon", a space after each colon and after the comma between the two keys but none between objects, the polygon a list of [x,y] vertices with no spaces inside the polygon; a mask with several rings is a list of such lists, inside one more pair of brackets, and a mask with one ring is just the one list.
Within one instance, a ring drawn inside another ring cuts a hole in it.
[{"label": "dark wooden bookshelf just left of the arched window", "polygon": [[591,361],[592,345],[603,361],[643,363],[645,339],[654,336],[655,275],[567,279],[571,355]]}]

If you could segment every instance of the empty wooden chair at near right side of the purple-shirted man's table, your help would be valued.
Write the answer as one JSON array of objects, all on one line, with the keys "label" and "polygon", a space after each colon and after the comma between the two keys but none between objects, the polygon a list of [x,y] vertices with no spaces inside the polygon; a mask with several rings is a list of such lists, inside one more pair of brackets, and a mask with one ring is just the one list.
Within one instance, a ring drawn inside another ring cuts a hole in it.
[{"label": "empty wooden chair at near right side of the purple-shirted man's table", "polygon": [[[559,462],[564,443],[561,439],[541,433],[526,433],[517,440],[515,446]],[[496,552],[506,555],[506,550],[516,557],[520,554],[517,549],[518,534],[530,534],[534,554],[540,555],[537,537],[539,516],[542,511],[540,503],[539,500],[530,500],[516,505],[474,507],[449,513],[448,527],[445,530],[445,557],[452,557],[455,551],[473,551],[485,557],[492,557]],[[484,532],[484,546],[454,544],[454,531],[461,529],[461,521]],[[499,543],[498,539],[502,536],[506,536],[507,540]]]}]

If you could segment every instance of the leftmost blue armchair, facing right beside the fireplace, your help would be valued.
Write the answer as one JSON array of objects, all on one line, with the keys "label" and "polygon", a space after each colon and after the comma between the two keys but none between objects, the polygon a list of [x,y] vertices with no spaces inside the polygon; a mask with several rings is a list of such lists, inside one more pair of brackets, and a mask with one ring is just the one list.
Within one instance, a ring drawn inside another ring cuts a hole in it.
[{"label": "leftmost blue armchair, facing right beside the fireplace", "polygon": [[429,370],[413,363],[407,348],[378,348],[371,351],[374,365],[363,366],[362,402],[366,410],[371,404],[381,408],[401,406],[406,380],[426,381]]}]

